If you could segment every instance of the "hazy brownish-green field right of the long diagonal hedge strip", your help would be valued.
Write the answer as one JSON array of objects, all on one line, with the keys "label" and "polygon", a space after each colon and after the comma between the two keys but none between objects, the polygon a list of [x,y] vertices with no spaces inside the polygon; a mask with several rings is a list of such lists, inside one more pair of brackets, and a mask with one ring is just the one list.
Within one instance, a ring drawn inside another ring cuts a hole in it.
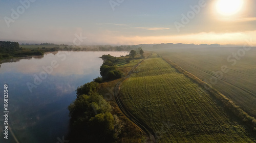
[{"label": "hazy brownish-green field right of the long diagonal hedge strip", "polygon": [[244,56],[238,56],[241,59],[232,65],[234,63],[228,62],[227,58],[239,49],[241,48],[174,48],[158,50],[158,53],[210,84],[212,76],[218,77],[213,72],[221,71],[221,67],[226,65],[229,71],[223,73],[217,83],[211,84],[212,87],[256,117],[256,48],[252,47]]}]

